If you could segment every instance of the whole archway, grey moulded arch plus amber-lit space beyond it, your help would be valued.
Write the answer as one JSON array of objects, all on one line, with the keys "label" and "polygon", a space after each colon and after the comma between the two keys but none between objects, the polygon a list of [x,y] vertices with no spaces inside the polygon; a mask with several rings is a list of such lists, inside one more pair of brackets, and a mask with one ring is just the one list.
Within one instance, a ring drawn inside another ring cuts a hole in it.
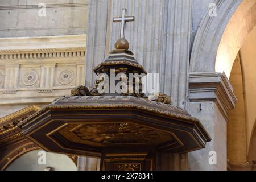
[{"label": "whole archway, grey moulded arch plus amber-lit space beyond it", "polygon": [[[254,169],[256,161],[256,1],[216,1],[217,16],[202,20],[190,72],[225,72],[238,102],[229,114],[228,159]],[[255,149],[254,149],[255,148]],[[248,168],[247,168],[248,169]]]}]

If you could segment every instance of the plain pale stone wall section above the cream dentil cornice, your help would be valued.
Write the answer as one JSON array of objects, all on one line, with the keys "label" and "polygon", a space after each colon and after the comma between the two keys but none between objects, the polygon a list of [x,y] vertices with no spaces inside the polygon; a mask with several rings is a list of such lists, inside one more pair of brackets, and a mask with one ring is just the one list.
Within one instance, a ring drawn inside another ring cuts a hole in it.
[{"label": "plain pale stone wall section above the cream dentil cornice", "polygon": [[5,0],[0,17],[0,37],[86,34],[88,0]]}]

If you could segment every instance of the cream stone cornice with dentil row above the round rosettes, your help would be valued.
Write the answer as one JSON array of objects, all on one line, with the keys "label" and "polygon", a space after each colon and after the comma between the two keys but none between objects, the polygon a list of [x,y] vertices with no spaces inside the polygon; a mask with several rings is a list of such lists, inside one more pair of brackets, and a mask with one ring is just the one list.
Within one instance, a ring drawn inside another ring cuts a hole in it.
[{"label": "cream stone cornice with dentil row above the round rosettes", "polygon": [[0,38],[0,60],[85,56],[86,35]]}]

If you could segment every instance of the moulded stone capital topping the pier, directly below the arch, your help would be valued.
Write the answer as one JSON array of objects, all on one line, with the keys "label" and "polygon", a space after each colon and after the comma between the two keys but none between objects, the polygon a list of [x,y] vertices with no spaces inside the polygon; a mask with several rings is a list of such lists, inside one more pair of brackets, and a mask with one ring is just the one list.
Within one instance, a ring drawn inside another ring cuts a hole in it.
[{"label": "moulded stone capital topping the pier, directly below the arch", "polygon": [[189,100],[191,102],[214,101],[229,121],[237,98],[225,73],[189,73]]}]

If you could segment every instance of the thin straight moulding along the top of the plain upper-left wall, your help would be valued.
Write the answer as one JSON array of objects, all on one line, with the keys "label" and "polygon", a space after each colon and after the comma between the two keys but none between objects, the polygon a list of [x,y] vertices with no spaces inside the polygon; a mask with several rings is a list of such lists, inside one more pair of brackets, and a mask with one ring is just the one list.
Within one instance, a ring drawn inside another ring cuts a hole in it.
[{"label": "thin straight moulding along the top of the plain upper-left wall", "polygon": [[[89,3],[60,3],[60,4],[46,4],[46,8],[54,7],[83,7],[89,6]],[[14,10],[14,9],[39,9],[40,6],[36,5],[13,5],[13,6],[0,6],[0,10]]]}]

